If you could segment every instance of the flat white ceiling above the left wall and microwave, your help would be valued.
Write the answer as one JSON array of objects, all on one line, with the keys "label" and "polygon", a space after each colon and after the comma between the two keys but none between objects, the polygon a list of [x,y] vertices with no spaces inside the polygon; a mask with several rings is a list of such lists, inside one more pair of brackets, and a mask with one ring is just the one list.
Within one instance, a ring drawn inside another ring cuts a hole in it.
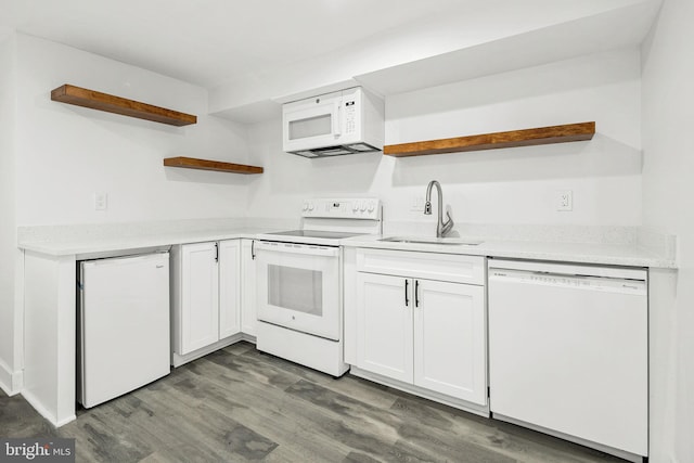
[{"label": "flat white ceiling above the left wall and microwave", "polygon": [[0,36],[17,30],[214,88],[485,2],[0,0]]}]

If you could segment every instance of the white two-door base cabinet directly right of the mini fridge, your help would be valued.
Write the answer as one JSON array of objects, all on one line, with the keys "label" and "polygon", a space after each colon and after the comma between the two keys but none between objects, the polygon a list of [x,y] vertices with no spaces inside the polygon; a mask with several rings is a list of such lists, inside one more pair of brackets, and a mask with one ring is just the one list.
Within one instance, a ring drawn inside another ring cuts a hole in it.
[{"label": "white two-door base cabinet directly right of the mini fridge", "polygon": [[239,240],[171,249],[175,366],[216,350],[241,327]]}]

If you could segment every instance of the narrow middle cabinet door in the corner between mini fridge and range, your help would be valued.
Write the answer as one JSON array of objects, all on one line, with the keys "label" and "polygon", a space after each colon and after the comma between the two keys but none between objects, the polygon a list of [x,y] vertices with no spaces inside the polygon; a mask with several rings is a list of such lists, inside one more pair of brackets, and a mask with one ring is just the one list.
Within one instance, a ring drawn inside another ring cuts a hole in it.
[{"label": "narrow middle cabinet door in the corner between mini fridge and range", "polygon": [[241,332],[241,243],[219,242],[219,338]]}]

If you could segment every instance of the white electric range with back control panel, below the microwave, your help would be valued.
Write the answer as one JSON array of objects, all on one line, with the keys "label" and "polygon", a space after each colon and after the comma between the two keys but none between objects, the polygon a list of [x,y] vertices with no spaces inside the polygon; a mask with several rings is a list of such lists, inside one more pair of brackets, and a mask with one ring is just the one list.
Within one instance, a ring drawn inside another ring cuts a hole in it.
[{"label": "white electric range with back control panel, below the microwave", "polygon": [[344,374],[339,240],[381,232],[378,200],[322,198],[304,203],[299,230],[258,235],[257,348]]}]

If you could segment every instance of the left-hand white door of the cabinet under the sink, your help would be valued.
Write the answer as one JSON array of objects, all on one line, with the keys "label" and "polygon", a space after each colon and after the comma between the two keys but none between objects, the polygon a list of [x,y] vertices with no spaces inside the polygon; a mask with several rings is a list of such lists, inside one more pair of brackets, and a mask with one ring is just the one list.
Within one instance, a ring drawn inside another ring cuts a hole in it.
[{"label": "left-hand white door of the cabinet under the sink", "polygon": [[412,280],[357,275],[357,366],[412,383]]}]

